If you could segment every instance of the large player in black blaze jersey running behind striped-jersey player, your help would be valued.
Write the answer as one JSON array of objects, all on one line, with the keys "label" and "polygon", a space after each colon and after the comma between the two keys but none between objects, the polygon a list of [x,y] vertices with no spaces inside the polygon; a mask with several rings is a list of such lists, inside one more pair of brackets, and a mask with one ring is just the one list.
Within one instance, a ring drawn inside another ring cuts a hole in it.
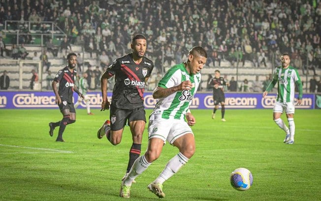
[{"label": "large player in black blaze jersey running behind striped-jersey player", "polygon": [[106,135],[111,144],[117,145],[122,140],[124,127],[128,122],[133,143],[123,179],[141,152],[142,135],[146,124],[143,94],[145,83],[154,68],[154,63],[144,57],[147,48],[144,35],[135,34],[130,47],[132,53],[116,59],[101,76],[101,110],[109,109],[107,79],[113,75],[115,75],[115,86],[110,105],[110,121],[107,120],[97,132],[99,139]]}]

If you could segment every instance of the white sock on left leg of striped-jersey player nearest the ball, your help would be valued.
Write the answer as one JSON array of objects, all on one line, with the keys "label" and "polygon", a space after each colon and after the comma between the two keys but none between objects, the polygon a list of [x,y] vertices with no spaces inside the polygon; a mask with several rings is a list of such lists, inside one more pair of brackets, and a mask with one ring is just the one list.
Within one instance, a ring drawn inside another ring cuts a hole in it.
[{"label": "white sock on left leg of striped-jersey player nearest the ball", "polygon": [[132,181],[141,173],[143,173],[147,167],[149,167],[152,163],[148,163],[148,161],[145,158],[145,155],[140,156],[132,167],[130,168],[130,171],[128,173],[127,178],[124,180],[125,186],[131,186]]}]

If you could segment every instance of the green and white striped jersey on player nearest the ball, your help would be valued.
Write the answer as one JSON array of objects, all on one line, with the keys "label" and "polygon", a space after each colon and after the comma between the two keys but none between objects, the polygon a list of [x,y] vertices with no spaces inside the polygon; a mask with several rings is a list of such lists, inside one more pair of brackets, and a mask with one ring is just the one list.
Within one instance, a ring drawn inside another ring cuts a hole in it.
[{"label": "green and white striped jersey on player nearest the ball", "polygon": [[161,98],[151,115],[156,114],[163,119],[181,119],[185,121],[186,112],[200,84],[201,74],[190,75],[184,64],[181,63],[171,67],[158,84],[159,87],[170,88],[180,85],[185,80],[190,80],[193,88],[191,90],[178,91],[168,97]]}]

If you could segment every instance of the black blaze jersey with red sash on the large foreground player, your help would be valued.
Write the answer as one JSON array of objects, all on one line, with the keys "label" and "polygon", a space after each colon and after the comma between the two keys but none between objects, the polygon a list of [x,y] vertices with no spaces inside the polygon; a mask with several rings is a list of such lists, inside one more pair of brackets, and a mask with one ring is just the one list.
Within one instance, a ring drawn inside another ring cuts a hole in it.
[{"label": "black blaze jersey with red sash on the large foreground player", "polygon": [[110,76],[115,75],[111,104],[120,109],[142,107],[145,78],[151,75],[153,68],[154,63],[146,57],[136,64],[131,53],[116,59],[106,69]]}]

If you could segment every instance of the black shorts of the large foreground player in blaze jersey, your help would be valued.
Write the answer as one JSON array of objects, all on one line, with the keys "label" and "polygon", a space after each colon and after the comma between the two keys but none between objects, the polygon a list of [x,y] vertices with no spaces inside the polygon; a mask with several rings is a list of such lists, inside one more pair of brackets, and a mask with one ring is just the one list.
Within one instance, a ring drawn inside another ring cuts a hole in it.
[{"label": "black shorts of the large foreground player in blaze jersey", "polygon": [[118,131],[125,127],[126,123],[131,121],[143,120],[146,122],[144,107],[134,109],[120,109],[110,105],[110,129]]}]

